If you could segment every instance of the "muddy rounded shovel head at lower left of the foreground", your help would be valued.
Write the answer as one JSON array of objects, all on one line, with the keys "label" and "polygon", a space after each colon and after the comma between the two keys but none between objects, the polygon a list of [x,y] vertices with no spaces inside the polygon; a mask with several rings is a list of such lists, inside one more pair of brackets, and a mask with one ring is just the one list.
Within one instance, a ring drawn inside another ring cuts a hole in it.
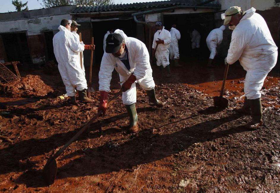
[{"label": "muddy rounded shovel head at lower left of the foreground", "polygon": [[48,159],[48,161],[43,169],[43,178],[45,179],[45,181],[48,185],[51,185],[54,183],[54,181],[56,179],[56,172],[57,172],[56,159],[53,159],[53,157],[50,157],[50,159]]}]

